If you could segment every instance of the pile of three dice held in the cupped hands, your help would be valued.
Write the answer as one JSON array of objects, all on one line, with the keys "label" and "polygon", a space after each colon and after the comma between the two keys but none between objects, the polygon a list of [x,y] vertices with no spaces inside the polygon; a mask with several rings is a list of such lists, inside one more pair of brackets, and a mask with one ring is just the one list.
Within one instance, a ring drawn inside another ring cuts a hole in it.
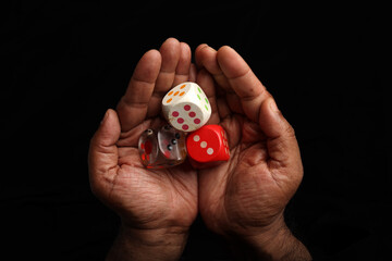
[{"label": "pile of three dice held in the cupped hands", "polygon": [[228,161],[229,142],[219,125],[205,125],[211,116],[211,105],[195,83],[172,88],[162,99],[168,125],[158,130],[145,130],[138,141],[143,164],[160,169],[181,164],[186,156],[196,162]]}]

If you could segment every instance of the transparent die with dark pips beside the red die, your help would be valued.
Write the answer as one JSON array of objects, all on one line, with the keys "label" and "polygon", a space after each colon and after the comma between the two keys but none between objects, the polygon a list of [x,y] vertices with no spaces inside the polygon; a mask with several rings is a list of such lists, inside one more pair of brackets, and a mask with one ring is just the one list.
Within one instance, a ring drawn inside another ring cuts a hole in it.
[{"label": "transparent die with dark pips beside the red die", "polygon": [[186,159],[185,134],[170,125],[146,129],[139,137],[138,151],[147,169],[181,164]]}]

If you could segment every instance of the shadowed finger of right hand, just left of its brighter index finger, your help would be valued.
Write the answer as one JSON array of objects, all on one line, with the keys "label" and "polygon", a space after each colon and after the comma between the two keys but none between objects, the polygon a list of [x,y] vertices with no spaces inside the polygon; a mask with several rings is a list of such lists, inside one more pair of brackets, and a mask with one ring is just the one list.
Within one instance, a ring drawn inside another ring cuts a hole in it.
[{"label": "shadowed finger of right hand, just left of its brighter index finger", "polygon": [[217,84],[224,90],[228,104],[233,112],[243,113],[238,96],[231,88],[226,76],[223,74],[218,60],[218,52],[207,45],[200,45],[196,49],[195,59],[199,66],[205,67],[215,78]]}]

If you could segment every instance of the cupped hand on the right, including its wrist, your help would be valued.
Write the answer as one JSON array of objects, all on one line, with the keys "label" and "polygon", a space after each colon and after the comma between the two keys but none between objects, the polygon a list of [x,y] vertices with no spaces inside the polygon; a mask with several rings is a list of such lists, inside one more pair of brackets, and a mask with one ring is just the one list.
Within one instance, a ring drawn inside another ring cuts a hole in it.
[{"label": "cupped hand on the right, including its wrist", "polygon": [[[226,130],[231,148],[230,161],[199,171],[200,214],[210,229],[230,240],[240,238],[258,257],[289,257],[293,249],[287,245],[301,245],[283,219],[303,177],[294,130],[232,48],[216,51],[201,45],[195,58],[197,83],[212,107],[209,123]],[[304,252],[309,259],[306,248]]]}]

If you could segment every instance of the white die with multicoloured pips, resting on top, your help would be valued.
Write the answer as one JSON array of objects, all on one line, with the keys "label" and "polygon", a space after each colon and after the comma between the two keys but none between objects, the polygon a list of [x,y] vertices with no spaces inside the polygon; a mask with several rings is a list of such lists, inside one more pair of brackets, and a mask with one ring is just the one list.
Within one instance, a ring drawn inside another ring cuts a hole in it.
[{"label": "white die with multicoloured pips, resting on top", "polygon": [[211,105],[200,86],[186,82],[173,87],[163,97],[162,112],[170,125],[188,133],[207,123]]}]

